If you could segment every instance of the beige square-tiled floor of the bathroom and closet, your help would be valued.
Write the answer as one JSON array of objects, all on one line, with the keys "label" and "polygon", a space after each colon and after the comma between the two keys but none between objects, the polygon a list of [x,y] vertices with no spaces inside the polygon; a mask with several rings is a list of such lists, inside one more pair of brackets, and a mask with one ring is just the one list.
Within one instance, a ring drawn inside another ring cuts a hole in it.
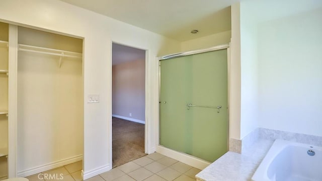
[{"label": "beige square-tiled floor of the bathroom and closet", "polygon": [[[79,161],[43,173],[63,173],[64,181],[80,181],[82,180],[81,170],[82,161]],[[159,153],[152,153],[85,181],[194,181],[196,180],[195,175],[199,171],[201,170],[178,160]],[[36,181],[39,180],[37,175],[27,178],[30,181]]]}]

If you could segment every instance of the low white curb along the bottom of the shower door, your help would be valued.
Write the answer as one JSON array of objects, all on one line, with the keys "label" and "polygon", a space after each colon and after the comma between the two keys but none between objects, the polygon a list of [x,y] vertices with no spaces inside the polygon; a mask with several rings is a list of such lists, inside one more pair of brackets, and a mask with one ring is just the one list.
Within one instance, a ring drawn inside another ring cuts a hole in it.
[{"label": "low white curb along the bottom of the shower door", "polygon": [[193,166],[198,169],[205,169],[207,166],[210,165],[210,162],[202,160],[200,158],[197,158],[195,156],[188,155],[186,153],[181,153],[169,148],[166,148],[164,146],[157,145],[156,146],[156,152],[166,155],[170,158],[179,160],[183,163],[186,163],[190,166]]}]

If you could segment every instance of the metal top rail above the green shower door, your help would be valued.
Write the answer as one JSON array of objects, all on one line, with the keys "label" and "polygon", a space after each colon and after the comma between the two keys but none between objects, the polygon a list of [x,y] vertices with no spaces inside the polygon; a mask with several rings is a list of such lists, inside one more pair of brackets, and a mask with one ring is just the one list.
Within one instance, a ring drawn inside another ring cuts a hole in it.
[{"label": "metal top rail above the green shower door", "polygon": [[166,56],[160,56],[160,57],[158,57],[158,60],[162,61],[164,59],[176,58],[176,57],[181,57],[181,56],[187,56],[187,55],[204,53],[204,52],[208,52],[208,51],[215,51],[215,50],[221,50],[221,49],[227,49],[227,48],[229,48],[229,44],[223,44],[223,45],[213,46],[213,47],[205,48],[205,49],[198,49],[198,50],[193,50],[193,51],[186,51],[186,52],[181,52],[181,53],[170,54],[170,55],[166,55]]}]

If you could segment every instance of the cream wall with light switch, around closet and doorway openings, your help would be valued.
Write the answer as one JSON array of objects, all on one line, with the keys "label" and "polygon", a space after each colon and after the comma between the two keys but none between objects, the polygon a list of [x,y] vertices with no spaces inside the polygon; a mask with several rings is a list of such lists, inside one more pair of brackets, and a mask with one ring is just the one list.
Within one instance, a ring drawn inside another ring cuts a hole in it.
[{"label": "cream wall with light switch, around closet and doorway openings", "polygon": [[[85,178],[112,167],[110,126],[112,118],[112,42],[148,51],[147,107],[148,129],[158,119],[157,61],[155,56],[180,51],[177,41],[120,21],[54,0],[1,1],[0,19],[84,37],[84,100],[99,94],[100,103],[84,102],[84,173]],[[155,145],[148,132],[148,153]],[[18,163],[19,164],[19,163]]]}]

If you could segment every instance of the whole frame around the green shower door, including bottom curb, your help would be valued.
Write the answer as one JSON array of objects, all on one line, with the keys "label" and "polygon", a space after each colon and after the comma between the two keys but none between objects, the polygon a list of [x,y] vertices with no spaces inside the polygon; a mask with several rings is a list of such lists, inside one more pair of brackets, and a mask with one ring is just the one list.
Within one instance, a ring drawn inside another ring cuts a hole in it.
[{"label": "whole frame around the green shower door, including bottom curb", "polygon": [[[229,130],[230,130],[230,122],[229,122],[229,97],[230,97],[230,43],[229,44],[222,44],[218,46],[212,46],[209,48],[204,48],[204,49],[197,49],[197,50],[192,50],[192,51],[185,51],[185,52],[180,52],[180,53],[174,53],[174,54],[169,54],[165,56],[159,56],[157,57],[158,61],[158,100],[160,102],[160,95],[161,95],[161,61],[165,59],[171,59],[171,58],[177,58],[177,57],[182,57],[182,56],[188,56],[188,55],[193,55],[193,54],[199,54],[199,53],[205,53],[205,52],[210,52],[210,51],[216,51],[216,50],[221,50],[221,49],[227,49],[227,124],[228,124],[228,130],[227,130],[227,150],[229,150]],[[158,104],[158,119],[157,119],[157,124],[155,128],[155,138],[156,138],[156,152],[164,154],[168,157],[177,159],[183,163],[186,163],[188,165],[194,165],[196,168],[199,169],[204,169],[207,167],[210,162],[205,161],[201,158],[182,153],[176,150],[172,150],[170,148],[167,148],[163,145],[160,145],[159,141],[159,125],[160,125],[160,104]]]}]

